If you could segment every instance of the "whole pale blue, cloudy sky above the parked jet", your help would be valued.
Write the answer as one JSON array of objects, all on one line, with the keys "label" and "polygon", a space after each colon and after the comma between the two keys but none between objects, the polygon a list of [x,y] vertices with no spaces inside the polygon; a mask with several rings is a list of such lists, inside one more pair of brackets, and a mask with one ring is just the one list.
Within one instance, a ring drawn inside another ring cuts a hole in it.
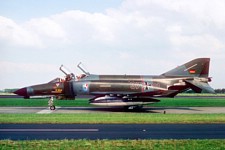
[{"label": "whole pale blue, cloudy sky above the parked jet", "polygon": [[160,75],[211,58],[225,88],[224,0],[0,0],[0,89],[80,74]]}]

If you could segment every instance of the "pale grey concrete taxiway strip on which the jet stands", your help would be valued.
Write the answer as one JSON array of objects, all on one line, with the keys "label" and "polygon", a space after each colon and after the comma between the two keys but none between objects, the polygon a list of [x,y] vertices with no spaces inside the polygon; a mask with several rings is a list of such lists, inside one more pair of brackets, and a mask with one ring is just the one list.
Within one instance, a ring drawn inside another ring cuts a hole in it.
[{"label": "pale grey concrete taxiway strip on which the jet stands", "polygon": [[[121,107],[56,107],[51,111],[48,107],[0,107],[0,113],[129,113]],[[213,114],[225,113],[225,107],[144,107],[137,112],[141,113],[167,113],[167,114]]]}]

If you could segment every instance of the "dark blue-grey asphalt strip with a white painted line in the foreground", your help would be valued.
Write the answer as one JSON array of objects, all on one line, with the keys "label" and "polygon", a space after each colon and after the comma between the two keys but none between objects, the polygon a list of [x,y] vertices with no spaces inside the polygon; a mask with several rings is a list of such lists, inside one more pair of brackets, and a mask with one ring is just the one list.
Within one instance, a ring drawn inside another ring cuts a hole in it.
[{"label": "dark blue-grey asphalt strip with a white painted line in the foreground", "polygon": [[0,140],[224,138],[225,124],[0,124]]}]

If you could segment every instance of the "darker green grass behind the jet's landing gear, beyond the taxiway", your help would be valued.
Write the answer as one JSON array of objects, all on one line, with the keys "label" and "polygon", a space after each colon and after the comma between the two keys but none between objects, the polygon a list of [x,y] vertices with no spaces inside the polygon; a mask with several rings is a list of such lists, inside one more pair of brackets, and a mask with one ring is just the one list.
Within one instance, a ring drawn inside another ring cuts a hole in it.
[{"label": "darker green grass behind the jet's landing gear, beyond the taxiway", "polygon": [[[161,102],[155,103],[154,107],[225,107],[224,98],[161,98]],[[74,106],[74,107],[90,107],[88,99],[76,100],[54,100],[56,106]],[[22,98],[1,98],[1,106],[47,106],[48,99],[22,99]]]}]

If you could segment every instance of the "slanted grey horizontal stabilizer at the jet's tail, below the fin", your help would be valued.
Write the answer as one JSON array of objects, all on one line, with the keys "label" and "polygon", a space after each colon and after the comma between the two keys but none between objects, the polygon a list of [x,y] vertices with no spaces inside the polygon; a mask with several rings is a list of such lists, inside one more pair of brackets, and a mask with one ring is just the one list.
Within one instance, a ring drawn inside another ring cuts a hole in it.
[{"label": "slanted grey horizontal stabilizer at the jet's tail, below the fin", "polygon": [[197,80],[185,80],[185,82],[190,86],[190,88],[196,93],[201,93],[206,91],[208,93],[215,93],[214,89],[206,82],[201,82]]}]

